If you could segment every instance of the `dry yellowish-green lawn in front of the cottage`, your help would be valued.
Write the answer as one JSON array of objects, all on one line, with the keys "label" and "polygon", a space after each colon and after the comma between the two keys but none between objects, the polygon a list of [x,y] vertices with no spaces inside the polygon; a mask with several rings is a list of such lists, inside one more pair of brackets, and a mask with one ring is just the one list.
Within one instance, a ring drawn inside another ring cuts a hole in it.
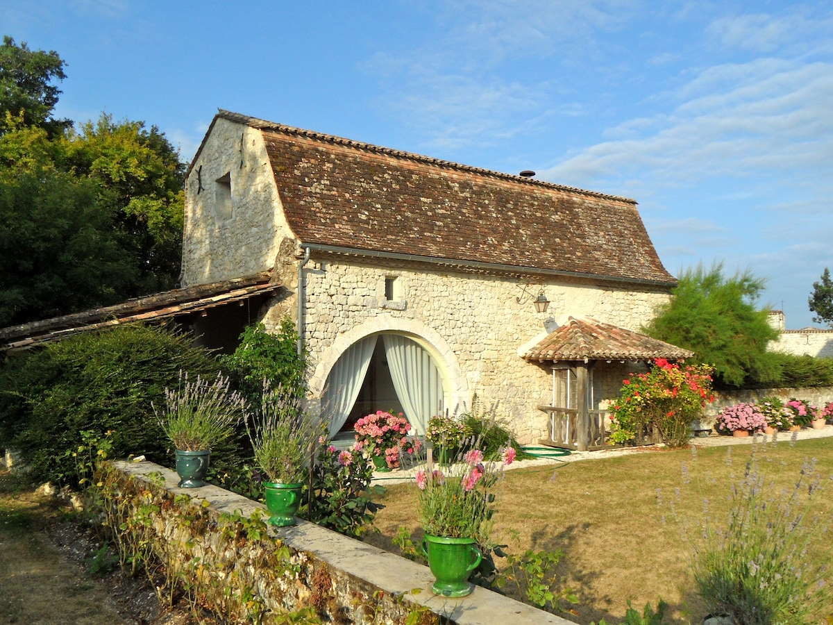
[{"label": "dry yellowish-green lawn in front of the cottage", "polygon": [[[831,438],[759,450],[763,469],[785,487],[795,483],[806,458],[818,459],[824,478],[833,474]],[[726,511],[731,475],[742,473],[750,453],[751,446],[701,448],[696,457],[691,450],[657,450],[507,472],[498,492],[496,539],[513,553],[531,547],[564,552],[559,572],[580,599],[576,613],[564,615],[571,620],[621,622],[628,600],[641,611],[647,602],[656,607],[663,598],[670,605],[667,616],[700,623],[706,608],[688,569],[691,540],[699,537],[705,515],[714,519]],[[688,484],[683,483],[684,465],[692,476]],[[421,533],[412,485],[388,488],[379,502],[387,506],[375,522],[382,534],[368,537],[369,542],[396,551],[391,538],[399,527]],[[687,525],[672,518],[671,502]],[[815,510],[830,517],[830,492],[816,499]],[[822,551],[817,543],[809,557],[823,553],[830,547]]]}]

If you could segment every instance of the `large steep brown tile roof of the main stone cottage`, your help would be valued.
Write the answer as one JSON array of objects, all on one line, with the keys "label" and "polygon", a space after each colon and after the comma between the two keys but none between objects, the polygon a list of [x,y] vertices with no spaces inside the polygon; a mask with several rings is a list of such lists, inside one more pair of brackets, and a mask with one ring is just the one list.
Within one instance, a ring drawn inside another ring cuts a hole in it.
[{"label": "large steep brown tile roof of the main stone cottage", "polygon": [[261,129],[302,243],[676,284],[631,199],[218,117]]}]

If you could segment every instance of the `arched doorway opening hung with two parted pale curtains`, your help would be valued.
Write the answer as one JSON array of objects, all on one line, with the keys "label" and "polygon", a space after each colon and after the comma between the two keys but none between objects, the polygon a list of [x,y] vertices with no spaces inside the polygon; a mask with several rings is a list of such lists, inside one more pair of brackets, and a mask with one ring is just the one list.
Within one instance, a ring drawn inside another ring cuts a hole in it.
[{"label": "arched doorway opening hung with two parted pale curtains", "polygon": [[431,353],[401,333],[377,333],[353,343],[332,367],[322,393],[330,435],[352,433],[377,410],[405,414],[418,434],[446,405],[446,383]]}]

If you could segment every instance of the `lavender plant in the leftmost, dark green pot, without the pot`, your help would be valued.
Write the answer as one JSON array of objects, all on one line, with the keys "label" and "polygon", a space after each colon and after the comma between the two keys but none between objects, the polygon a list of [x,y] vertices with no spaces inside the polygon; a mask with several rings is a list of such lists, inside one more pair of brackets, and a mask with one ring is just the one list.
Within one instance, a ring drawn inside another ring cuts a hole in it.
[{"label": "lavender plant in the leftmost, dark green pot, without the pot", "polygon": [[246,400],[229,388],[228,378],[217,373],[214,382],[189,380],[180,372],[177,388],[165,389],[165,408],[154,405],[157,423],[182,452],[210,451],[234,435],[246,413]]}]

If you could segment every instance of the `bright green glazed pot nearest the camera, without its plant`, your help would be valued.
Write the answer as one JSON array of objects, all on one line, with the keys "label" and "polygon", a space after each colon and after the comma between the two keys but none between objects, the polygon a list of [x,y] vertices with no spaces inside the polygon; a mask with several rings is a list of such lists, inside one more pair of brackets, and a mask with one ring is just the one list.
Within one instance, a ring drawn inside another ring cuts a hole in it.
[{"label": "bright green glazed pot nearest the camera, without its plant", "polygon": [[441,597],[466,597],[474,590],[468,582],[480,566],[482,554],[472,538],[445,538],[426,534],[420,545],[436,577],[431,592]]}]

